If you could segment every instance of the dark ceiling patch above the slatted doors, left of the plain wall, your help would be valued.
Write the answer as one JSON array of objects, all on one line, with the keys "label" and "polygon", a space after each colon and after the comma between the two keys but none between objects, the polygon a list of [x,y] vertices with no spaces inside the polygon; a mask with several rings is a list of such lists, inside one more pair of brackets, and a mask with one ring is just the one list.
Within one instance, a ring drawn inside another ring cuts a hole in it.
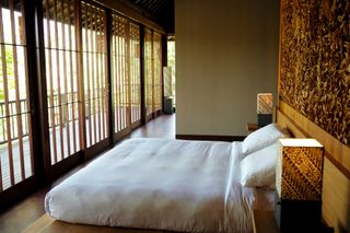
[{"label": "dark ceiling patch above the slatted doors, left of the plain wall", "polygon": [[167,34],[175,34],[174,0],[126,0],[142,10],[145,16],[164,27]]}]

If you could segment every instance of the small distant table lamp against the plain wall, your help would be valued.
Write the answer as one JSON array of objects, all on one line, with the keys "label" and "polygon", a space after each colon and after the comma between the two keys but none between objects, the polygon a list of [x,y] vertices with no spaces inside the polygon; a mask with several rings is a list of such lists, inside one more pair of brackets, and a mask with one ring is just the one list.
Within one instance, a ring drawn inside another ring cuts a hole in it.
[{"label": "small distant table lamp against the plain wall", "polygon": [[272,93],[258,93],[257,107],[258,126],[262,127],[272,123],[273,95]]}]

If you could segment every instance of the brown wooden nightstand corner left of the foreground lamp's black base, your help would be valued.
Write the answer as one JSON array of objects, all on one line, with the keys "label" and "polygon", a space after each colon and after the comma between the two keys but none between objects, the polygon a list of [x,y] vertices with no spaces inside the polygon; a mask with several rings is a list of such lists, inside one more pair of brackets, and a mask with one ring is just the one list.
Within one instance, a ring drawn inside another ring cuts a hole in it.
[{"label": "brown wooden nightstand corner left of the foreground lamp's black base", "polygon": [[279,233],[273,210],[252,210],[254,233]]}]

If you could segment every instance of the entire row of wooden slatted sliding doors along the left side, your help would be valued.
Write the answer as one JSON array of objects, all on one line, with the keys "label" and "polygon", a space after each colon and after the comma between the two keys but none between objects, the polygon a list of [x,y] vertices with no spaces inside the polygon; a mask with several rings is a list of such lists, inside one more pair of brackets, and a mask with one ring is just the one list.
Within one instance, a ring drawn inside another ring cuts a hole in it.
[{"label": "entire row of wooden slatted sliding doors along the left side", "polygon": [[161,34],[141,32],[90,0],[0,0],[0,205],[161,110]]}]

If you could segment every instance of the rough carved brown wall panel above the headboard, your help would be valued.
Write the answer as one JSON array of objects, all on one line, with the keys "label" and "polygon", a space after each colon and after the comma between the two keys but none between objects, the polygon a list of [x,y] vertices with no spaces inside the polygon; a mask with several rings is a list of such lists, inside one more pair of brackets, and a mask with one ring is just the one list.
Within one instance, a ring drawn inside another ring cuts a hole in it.
[{"label": "rough carved brown wall panel above the headboard", "polygon": [[280,97],[350,145],[350,2],[281,0]]}]

